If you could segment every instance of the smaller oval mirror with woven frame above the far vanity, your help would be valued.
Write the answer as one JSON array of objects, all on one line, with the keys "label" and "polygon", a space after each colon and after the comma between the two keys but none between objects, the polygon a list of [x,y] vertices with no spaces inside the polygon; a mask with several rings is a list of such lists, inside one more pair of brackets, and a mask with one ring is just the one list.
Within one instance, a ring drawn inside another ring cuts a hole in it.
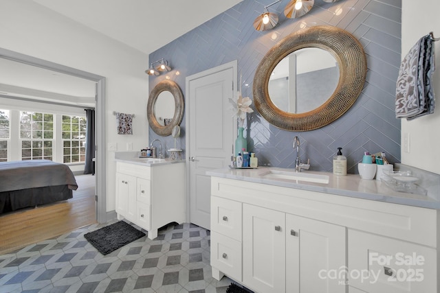
[{"label": "smaller oval mirror with woven frame above the far vanity", "polygon": [[184,108],[184,95],[179,85],[163,80],[156,84],[148,97],[148,124],[155,133],[166,137],[171,134],[174,126],[180,124],[184,117]]}]

